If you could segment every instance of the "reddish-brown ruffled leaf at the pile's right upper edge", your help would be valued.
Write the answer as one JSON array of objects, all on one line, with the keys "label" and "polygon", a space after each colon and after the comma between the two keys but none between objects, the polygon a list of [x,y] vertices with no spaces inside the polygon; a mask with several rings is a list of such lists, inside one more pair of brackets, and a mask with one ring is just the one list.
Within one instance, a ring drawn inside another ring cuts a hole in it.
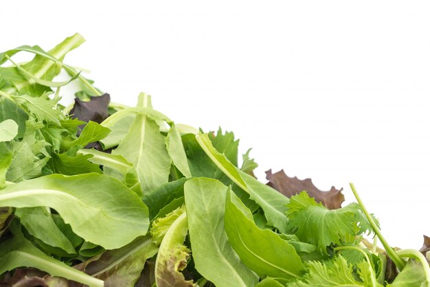
[{"label": "reddish-brown ruffled leaf at the pile's right upper edge", "polygon": [[278,192],[284,194],[288,198],[306,190],[310,197],[315,198],[318,203],[322,203],[328,209],[341,208],[341,204],[345,201],[342,188],[337,190],[332,186],[328,192],[323,192],[313,185],[311,179],[304,179],[302,181],[297,179],[297,176],[289,177],[285,174],[284,170],[280,170],[274,174],[272,170],[268,170],[266,172],[266,179],[269,181],[267,185],[278,190]]}]

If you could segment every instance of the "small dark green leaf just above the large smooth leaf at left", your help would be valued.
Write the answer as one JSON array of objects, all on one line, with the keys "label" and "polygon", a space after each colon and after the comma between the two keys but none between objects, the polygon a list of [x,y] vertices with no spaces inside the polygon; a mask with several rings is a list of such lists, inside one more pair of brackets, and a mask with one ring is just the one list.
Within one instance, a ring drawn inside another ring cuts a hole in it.
[{"label": "small dark green leaf just above the large smooth leaf at left", "polygon": [[69,157],[67,154],[52,154],[47,166],[56,174],[76,175],[89,172],[102,173],[99,165],[91,163],[91,154],[76,154],[76,157]]}]

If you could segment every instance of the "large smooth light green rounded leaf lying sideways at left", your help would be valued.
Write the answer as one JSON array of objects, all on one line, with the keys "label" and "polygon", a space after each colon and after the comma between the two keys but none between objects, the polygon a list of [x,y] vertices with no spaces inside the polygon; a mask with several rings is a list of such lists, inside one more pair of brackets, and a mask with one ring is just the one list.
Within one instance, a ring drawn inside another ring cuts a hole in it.
[{"label": "large smooth light green rounded leaf lying sideways at left", "polygon": [[9,185],[0,191],[1,206],[52,207],[78,236],[105,249],[146,234],[149,225],[142,200],[120,181],[102,174],[52,174]]}]

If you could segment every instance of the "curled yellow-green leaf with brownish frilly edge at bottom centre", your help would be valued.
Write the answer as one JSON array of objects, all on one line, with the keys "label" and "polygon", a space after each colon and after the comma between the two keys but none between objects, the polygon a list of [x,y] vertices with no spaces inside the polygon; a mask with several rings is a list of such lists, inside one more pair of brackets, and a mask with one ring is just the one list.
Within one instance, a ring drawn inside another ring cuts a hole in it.
[{"label": "curled yellow-green leaf with brownish frilly edge at bottom centre", "polygon": [[155,282],[158,287],[196,286],[192,280],[185,280],[181,273],[190,257],[190,249],[183,245],[187,231],[187,214],[183,213],[170,226],[159,247],[155,262]]}]

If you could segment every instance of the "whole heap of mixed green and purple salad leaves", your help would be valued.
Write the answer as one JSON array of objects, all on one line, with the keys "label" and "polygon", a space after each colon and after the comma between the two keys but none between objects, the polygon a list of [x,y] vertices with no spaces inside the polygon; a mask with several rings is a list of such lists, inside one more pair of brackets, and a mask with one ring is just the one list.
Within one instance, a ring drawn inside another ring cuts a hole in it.
[{"label": "whole heap of mixed green and purple salad leaves", "polygon": [[394,250],[353,185],[341,207],[334,187],[262,183],[233,133],[175,124],[144,93],[111,103],[63,63],[83,41],[0,54],[0,286],[429,286],[428,238]]}]

